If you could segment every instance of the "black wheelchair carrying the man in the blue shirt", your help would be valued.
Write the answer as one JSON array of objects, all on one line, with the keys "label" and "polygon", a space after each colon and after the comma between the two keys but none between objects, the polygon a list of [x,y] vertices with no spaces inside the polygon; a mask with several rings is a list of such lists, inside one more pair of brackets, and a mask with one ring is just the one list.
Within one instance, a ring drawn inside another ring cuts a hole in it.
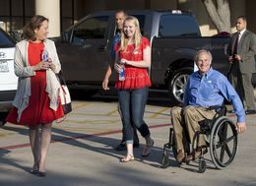
[{"label": "black wheelchair carrying the man in the blue shirt", "polygon": [[[195,142],[193,142],[197,143],[196,150],[202,152],[198,160],[198,172],[200,173],[203,173],[206,170],[206,160],[203,151],[208,152],[208,149],[210,150],[212,161],[218,169],[223,169],[230,164],[237,151],[237,131],[235,124],[225,116],[226,107],[212,106],[208,109],[215,109],[217,113],[212,120],[205,119],[199,122],[200,131],[195,134]],[[204,135],[206,146],[198,147],[198,137],[200,135]],[[187,146],[185,147],[186,154],[190,154],[190,144],[187,143]],[[176,158],[177,150],[172,127],[169,129],[168,143],[163,145],[161,157],[162,168],[166,168],[169,165],[170,151]],[[188,161],[186,163],[189,164]]]}]

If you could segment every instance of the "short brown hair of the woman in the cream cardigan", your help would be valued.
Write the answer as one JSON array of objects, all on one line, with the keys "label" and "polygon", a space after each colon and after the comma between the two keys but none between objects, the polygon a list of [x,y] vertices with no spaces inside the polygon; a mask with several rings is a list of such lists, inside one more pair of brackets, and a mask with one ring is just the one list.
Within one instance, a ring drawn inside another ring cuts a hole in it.
[{"label": "short brown hair of the woman in the cream cardigan", "polygon": [[34,41],[36,39],[34,30],[40,29],[41,23],[44,22],[45,20],[49,22],[47,18],[40,15],[32,17],[32,20],[23,29],[22,38]]}]

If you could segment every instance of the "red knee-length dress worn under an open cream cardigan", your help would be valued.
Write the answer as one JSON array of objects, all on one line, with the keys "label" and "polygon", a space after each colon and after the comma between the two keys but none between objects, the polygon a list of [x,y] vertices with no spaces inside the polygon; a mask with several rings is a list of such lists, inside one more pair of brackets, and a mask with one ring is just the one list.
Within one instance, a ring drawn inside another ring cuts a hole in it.
[{"label": "red knee-length dress worn under an open cream cardigan", "polygon": [[[44,44],[29,42],[29,63],[33,66],[40,62],[40,56]],[[50,123],[64,116],[61,103],[56,111],[49,107],[50,99],[46,89],[46,71],[36,71],[35,76],[31,77],[32,95],[30,96],[29,105],[22,112],[21,120],[18,123],[17,108],[13,107],[6,118],[6,121],[19,125],[35,126],[39,124]]]}]

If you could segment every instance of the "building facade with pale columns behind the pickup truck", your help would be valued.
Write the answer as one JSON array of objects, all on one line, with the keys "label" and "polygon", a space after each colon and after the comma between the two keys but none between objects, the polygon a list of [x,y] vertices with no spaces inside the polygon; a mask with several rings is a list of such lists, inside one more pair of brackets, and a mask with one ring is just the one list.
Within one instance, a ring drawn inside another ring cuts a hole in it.
[{"label": "building facade with pale columns behind the pickup truck", "polygon": [[[5,31],[22,30],[35,14],[49,18],[49,36],[54,37],[96,11],[180,9],[196,16],[202,35],[217,33],[201,0],[1,0],[0,4],[0,27]],[[253,10],[255,5],[253,0],[229,0],[232,31],[235,31],[235,19],[245,15],[248,29],[256,32],[256,15]]]}]

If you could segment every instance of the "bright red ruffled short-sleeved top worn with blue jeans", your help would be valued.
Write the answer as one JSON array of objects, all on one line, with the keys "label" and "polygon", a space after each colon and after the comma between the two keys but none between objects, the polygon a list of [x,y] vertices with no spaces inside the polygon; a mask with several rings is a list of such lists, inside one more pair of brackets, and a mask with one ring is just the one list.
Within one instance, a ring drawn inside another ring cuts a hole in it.
[{"label": "bright red ruffled short-sleeved top worn with blue jeans", "polygon": [[[119,52],[119,59],[124,58],[128,61],[142,61],[143,50],[150,46],[150,41],[146,37],[142,37],[142,42],[137,50],[134,51],[135,45],[130,44],[125,51]],[[115,51],[118,51],[120,43],[116,44]],[[147,68],[138,68],[130,65],[125,65],[125,80],[119,81],[118,77],[115,83],[117,90],[136,90],[143,89],[151,86]]]}]

